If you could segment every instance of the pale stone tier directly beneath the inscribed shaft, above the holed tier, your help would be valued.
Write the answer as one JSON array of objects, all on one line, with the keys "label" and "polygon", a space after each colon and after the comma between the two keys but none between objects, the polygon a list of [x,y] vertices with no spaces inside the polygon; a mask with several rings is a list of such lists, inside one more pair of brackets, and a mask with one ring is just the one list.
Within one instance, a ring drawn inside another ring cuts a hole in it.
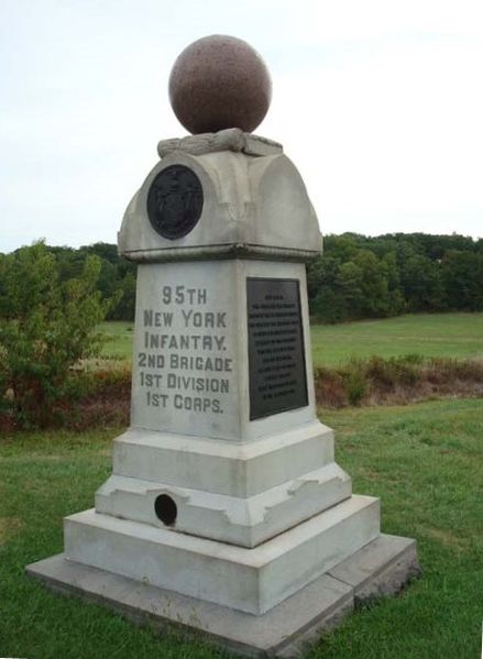
[{"label": "pale stone tier directly beneath the inscribed shaft, above the holed tier", "polygon": [[114,440],[113,473],[249,498],[333,463],[333,432],[304,424],[239,443],[130,428]]}]

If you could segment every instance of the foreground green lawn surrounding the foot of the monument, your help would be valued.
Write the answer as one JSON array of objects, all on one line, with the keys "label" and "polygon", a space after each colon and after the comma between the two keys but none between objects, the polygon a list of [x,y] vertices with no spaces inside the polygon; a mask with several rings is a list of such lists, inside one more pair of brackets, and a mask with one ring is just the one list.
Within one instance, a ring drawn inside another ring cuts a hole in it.
[{"label": "foreground green lawn surrounding the foot of the monument", "polygon": [[[383,530],[415,537],[421,580],[349,617],[306,659],[479,657],[483,589],[483,402],[321,410],[354,492],[381,496]],[[92,505],[116,431],[0,440],[0,656],[208,659],[222,652],[156,637],[54,595],[24,565],[63,549],[62,518]]]}]

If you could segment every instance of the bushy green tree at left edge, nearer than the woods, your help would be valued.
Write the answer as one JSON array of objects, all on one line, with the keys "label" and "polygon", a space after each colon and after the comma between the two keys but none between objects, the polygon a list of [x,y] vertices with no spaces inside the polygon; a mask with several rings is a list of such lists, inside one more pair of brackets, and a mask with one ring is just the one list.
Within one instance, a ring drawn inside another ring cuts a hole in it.
[{"label": "bushy green tree at left edge, nearer than the woods", "polygon": [[0,259],[0,398],[21,422],[48,424],[69,369],[99,348],[95,328],[112,304],[96,289],[97,257],[75,278],[59,270],[43,243]]}]

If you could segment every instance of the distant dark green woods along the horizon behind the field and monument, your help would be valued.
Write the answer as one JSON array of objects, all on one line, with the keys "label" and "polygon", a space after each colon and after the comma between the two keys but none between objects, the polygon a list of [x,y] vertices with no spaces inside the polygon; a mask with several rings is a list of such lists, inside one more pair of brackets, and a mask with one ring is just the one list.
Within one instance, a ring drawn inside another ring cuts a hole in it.
[{"label": "distant dark green woods along the horizon behind the field and monument", "polygon": [[[96,256],[100,262],[97,290],[102,300],[114,300],[107,318],[133,320],[136,265],[119,256],[114,244],[46,249],[61,282],[79,277],[86,261]],[[323,254],[307,267],[307,282],[310,314],[319,322],[483,311],[483,239],[426,233],[327,235]]]}]

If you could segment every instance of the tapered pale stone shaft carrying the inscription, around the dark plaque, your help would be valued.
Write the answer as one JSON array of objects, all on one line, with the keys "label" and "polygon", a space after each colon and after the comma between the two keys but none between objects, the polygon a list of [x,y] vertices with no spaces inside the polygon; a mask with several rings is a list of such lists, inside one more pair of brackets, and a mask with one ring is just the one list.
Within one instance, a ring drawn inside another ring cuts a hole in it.
[{"label": "tapered pale stone shaft carrying the inscription, around the dark plaque", "polygon": [[290,277],[299,283],[304,359],[311,373],[303,265],[244,260],[142,264],[138,268],[133,427],[245,441],[317,420],[311,377],[306,405],[250,420],[250,392],[243,384],[249,378],[248,277]]}]

